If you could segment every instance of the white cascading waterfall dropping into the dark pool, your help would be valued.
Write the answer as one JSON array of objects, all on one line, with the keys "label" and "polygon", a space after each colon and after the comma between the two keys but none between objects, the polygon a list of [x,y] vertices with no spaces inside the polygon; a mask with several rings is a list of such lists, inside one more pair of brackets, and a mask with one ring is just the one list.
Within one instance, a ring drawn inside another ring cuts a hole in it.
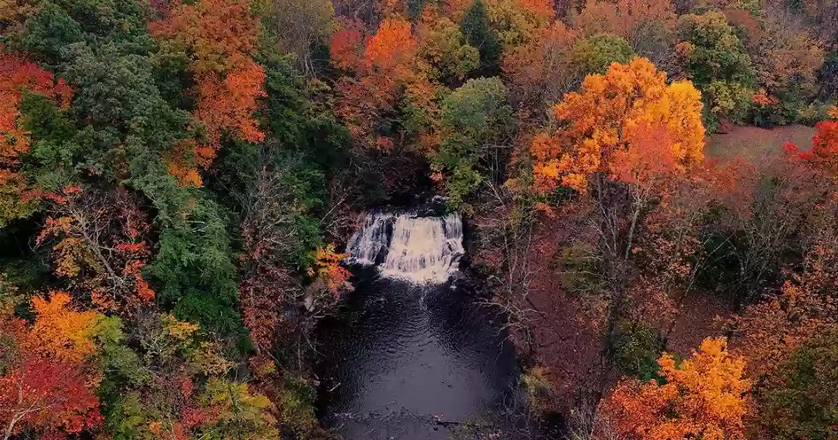
[{"label": "white cascading waterfall dropping into the dark pool", "polygon": [[347,244],[348,261],[377,266],[385,277],[446,282],[463,256],[458,214],[368,214]]}]

